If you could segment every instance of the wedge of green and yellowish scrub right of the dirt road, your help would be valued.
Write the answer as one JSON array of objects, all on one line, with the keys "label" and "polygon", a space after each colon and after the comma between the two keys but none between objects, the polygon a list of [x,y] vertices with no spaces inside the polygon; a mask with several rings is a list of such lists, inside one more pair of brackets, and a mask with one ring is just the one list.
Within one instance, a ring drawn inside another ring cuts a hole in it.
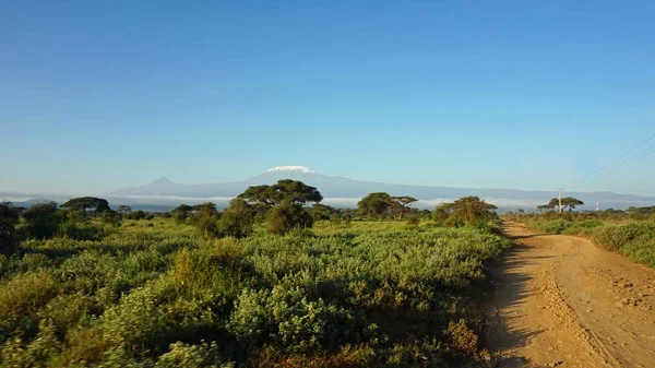
[{"label": "wedge of green and yellowish scrub right of the dirt road", "polygon": [[505,218],[546,233],[583,236],[602,248],[655,268],[655,207],[561,214],[511,213]]}]

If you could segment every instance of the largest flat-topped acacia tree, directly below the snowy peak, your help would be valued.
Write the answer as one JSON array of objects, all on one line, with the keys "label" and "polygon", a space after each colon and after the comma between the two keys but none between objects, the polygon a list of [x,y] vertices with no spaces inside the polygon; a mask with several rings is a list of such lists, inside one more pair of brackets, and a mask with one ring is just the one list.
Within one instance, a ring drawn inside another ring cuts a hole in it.
[{"label": "largest flat-topped acacia tree, directly below the snowy peak", "polygon": [[314,187],[302,181],[284,179],[273,186],[249,187],[238,198],[253,204],[274,206],[282,202],[305,205],[307,203],[319,203],[323,195]]}]

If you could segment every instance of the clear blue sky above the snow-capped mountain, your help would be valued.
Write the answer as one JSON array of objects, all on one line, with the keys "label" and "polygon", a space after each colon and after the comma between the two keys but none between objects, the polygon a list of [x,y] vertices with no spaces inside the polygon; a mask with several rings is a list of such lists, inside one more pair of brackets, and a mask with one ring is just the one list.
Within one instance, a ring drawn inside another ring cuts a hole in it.
[{"label": "clear blue sky above the snow-capped mountain", "polygon": [[619,159],[655,134],[654,20],[653,1],[2,1],[0,191],[305,165],[655,195],[655,140]]}]

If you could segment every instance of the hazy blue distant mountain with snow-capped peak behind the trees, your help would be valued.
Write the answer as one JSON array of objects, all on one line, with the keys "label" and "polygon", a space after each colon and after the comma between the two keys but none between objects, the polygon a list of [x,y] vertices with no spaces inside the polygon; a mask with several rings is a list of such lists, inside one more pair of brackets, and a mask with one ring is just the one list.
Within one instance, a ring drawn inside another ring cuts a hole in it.
[{"label": "hazy blue distant mountain with snow-capped peak behind the trees", "polygon": [[[154,180],[150,185],[117,190],[111,197],[177,197],[190,199],[203,198],[231,198],[236,197],[250,186],[272,185],[281,179],[300,180],[317,187],[324,198],[359,199],[368,193],[383,191],[392,195],[413,195],[422,201],[432,202],[453,200],[465,195],[478,195],[489,202],[501,206],[534,206],[546,203],[556,197],[552,191],[529,191],[516,189],[488,189],[488,188],[454,188],[429,187],[413,185],[394,185],[374,181],[353,180],[343,177],[325,176],[306,166],[278,166],[265,173],[234,182],[184,185],[172,182],[165,177]],[[624,209],[631,205],[653,205],[655,198],[631,194],[617,194],[612,192],[567,192],[585,202],[585,209],[595,207],[600,202],[600,207]]]}]

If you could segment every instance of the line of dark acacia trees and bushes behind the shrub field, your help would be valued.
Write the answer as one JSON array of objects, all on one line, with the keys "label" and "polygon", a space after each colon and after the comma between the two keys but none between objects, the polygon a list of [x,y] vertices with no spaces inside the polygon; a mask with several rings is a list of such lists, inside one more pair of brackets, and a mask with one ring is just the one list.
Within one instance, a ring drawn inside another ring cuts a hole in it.
[{"label": "line of dark acacia trees and bushes behind the shrub field", "polygon": [[321,204],[322,200],[317,188],[287,179],[272,186],[250,187],[223,211],[212,202],[180,204],[170,212],[145,212],[129,205],[112,210],[107,200],[95,197],[74,198],[61,205],[37,203],[29,207],[13,206],[8,202],[0,204],[1,241],[3,252],[10,253],[24,239],[98,240],[106,233],[105,226],[118,227],[124,219],[152,221],[157,217],[193,225],[205,238],[245,237],[252,234],[255,226],[279,235],[295,228],[312,227],[318,221],[348,226],[358,219],[407,221],[409,225],[433,219],[440,226],[460,227],[486,226],[498,218],[497,207],[477,197],[442,203],[434,211],[413,209],[416,198],[384,192],[366,195],[357,203],[357,209],[335,209]]}]

